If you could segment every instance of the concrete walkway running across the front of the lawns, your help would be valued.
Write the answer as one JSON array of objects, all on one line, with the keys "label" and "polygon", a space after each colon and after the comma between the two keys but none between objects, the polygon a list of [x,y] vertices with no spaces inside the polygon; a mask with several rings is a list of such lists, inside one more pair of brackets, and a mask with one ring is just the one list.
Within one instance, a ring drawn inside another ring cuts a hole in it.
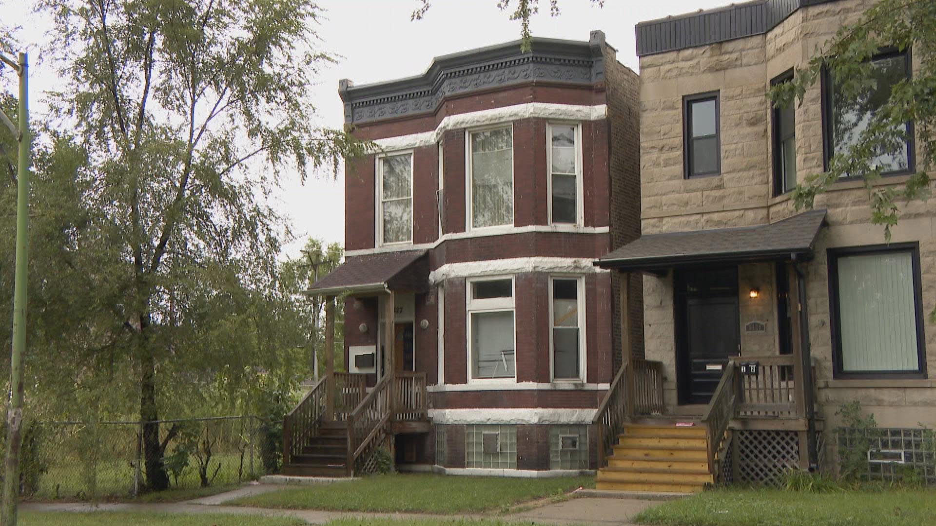
[{"label": "concrete walkway running across the front of the lawns", "polygon": [[22,504],[23,511],[134,511],[152,513],[184,513],[184,514],[242,514],[242,515],[268,515],[281,517],[295,517],[303,519],[310,524],[325,524],[330,519],[342,517],[358,517],[361,519],[389,518],[401,520],[414,519],[500,519],[505,522],[522,522],[524,524],[582,524],[589,526],[633,526],[630,522],[634,516],[646,507],[656,504],[645,499],[615,499],[615,498],[577,498],[536,506],[532,509],[520,511],[505,516],[490,516],[470,514],[463,516],[429,515],[417,513],[356,513],[341,511],[317,511],[298,509],[270,509],[257,507],[244,507],[224,505],[223,503],[247,495],[256,495],[268,491],[283,489],[283,486],[252,485],[243,488],[203,497],[184,503],[159,504]]}]

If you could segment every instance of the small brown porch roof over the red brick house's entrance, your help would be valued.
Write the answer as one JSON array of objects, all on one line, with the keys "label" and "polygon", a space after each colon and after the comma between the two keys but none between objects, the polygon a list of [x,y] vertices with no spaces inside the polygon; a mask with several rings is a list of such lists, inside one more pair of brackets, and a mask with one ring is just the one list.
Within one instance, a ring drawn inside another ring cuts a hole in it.
[{"label": "small brown porch roof over the red brick house's entrance", "polygon": [[429,288],[429,261],[424,250],[387,252],[345,259],[337,269],[315,282],[306,294],[337,296]]}]

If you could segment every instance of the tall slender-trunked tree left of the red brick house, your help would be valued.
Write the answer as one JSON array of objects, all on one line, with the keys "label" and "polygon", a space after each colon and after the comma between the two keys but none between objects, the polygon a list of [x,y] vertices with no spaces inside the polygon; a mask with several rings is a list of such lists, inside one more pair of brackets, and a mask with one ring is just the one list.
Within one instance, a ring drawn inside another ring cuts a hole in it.
[{"label": "tall slender-trunked tree left of the red brick house", "polygon": [[78,197],[93,211],[95,254],[107,262],[89,279],[108,285],[110,296],[92,298],[110,320],[89,327],[79,347],[137,377],[146,481],[165,489],[174,430],[160,435],[160,394],[168,383],[216,377],[199,353],[220,354],[242,379],[254,365],[246,358],[265,344],[256,332],[236,336],[249,334],[242,320],[259,319],[257,291],[277,280],[282,224],[265,204],[271,185],[285,170],[304,179],[314,168],[337,169],[368,147],[314,124],[311,76],[331,59],[314,51],[320,10],[312,2],[38,7],[54,14],[66,85],[52,107],[84,155]]}]

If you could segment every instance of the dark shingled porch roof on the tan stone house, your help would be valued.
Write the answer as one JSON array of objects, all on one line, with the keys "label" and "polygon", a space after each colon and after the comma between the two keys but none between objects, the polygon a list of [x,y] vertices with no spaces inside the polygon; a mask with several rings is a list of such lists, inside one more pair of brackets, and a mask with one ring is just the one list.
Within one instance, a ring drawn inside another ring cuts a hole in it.
[{"label": "dark shingled porch roof on the tan stone house", "polygon": [[658,271],[681,265],[812,256],[826,211],[802,212],[770,225],[647,234],[595,261],[602,269]]}]

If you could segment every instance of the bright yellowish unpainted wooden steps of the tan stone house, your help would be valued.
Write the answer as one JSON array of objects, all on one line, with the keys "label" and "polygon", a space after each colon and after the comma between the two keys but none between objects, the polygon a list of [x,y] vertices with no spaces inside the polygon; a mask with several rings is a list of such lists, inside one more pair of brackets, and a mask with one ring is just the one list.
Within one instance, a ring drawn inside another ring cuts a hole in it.
[{"label": "bright yellowish unpainted wooden steps of the tan stone house", "polygon": [[597,489],[695,493],[713,482],[706,427],[675,423],[624,424],[607,467],[598,471]]}]

